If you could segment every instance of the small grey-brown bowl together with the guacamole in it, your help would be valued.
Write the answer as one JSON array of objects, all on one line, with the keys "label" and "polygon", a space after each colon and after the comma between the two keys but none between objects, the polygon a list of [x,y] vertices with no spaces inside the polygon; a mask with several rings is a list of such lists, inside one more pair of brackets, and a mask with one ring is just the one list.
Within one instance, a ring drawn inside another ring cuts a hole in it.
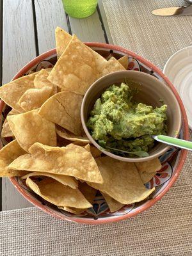
[{"label": "small grey-brown bowl together with the guacamole in it", "polygon": [[152,135],[177,137],[180,108],[175,95],[156,77],[120,71],[96,81],[81,106],[84,131],[95,147],[122,161],[161,156],[168,145]]}]

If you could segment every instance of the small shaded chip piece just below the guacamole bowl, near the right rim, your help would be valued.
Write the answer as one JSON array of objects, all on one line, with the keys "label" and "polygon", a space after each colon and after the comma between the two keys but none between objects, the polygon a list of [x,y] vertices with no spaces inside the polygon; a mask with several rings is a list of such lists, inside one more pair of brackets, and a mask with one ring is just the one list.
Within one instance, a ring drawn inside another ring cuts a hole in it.
[{"label": "small shaded chip piece just below the guacamole bowl, near the right rim", "polygon": [[135,165],[140,173],[142,172],[154,173],[161,170],[162,168],[159,158],[155,158],[145,162],[137,162],[135,163]]}]

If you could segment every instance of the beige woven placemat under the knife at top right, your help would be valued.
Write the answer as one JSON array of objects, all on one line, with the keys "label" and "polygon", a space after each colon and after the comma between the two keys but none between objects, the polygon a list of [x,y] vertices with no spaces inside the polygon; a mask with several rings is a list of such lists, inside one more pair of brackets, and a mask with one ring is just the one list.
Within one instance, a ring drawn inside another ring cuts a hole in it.
[{"label": "beige woven placemat under the knife at top right", "polygon": [[192,44],[192,16],[157,17],[154,9],[186,5],[181,0],[103,0],[113,42],[162,68],[176,51]]}]

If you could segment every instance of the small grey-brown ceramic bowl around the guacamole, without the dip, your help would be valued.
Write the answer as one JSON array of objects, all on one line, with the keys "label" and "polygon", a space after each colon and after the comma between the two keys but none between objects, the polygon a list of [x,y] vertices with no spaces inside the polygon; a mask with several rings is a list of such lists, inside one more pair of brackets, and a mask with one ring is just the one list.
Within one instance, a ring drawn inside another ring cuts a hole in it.
[{"label": "small grey-brown ceramic bowl around the guacamole, without the dip", "polygon": [[[106,76],[101,77],[92,86],[88,89],[83,98],[83,103],[81,105],[81,122],[83,124],[84,132],[88,136],[89,140],[99,148],[100,145],[93,140],[86,123],[89,118],[90,111],[93,109],[95,101],[100,97],[100,95],[111,85],[111,84],[120,84],[125,81],[125,79],[131,79],[132,81],[138,82],[141,84],[140,92],[136,96],[138,102],[151,105],[153,107],[162,106],[160,99],[163,99],[163,103],[168,105],[167,111],[167,125],[168,125],[168,136],[177,137],[181,127],[181,113],[179,103],[172,90],[163,82],[159,81],[154,76],[146,74],[139,71],[118,71]],[[160,101],[159,101],[160,100]],[[175,132],[178,131],[178,132]],[[115,154],[108,152],[106,150],[101,150],[104,154],[113,157],[115,159],[127,162],[141,162],[148,161],[155,157],[159,157],[164,152],[166,152],[170,147],[163,143],[157,143],[150,152],[149,156],[142,158],[131,158],[131,157],[122,157],[116,156]]]}]

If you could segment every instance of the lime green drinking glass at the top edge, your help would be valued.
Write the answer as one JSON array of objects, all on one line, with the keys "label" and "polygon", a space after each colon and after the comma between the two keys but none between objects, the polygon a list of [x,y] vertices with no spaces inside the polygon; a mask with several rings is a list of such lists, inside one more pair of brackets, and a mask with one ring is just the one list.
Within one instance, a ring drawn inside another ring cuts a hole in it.
[{"label": "lime green drinking glass at the top edge", "polygon": [[86,18],[95,12],[97,0],[63,0],[63,7],[71,17]]}]

